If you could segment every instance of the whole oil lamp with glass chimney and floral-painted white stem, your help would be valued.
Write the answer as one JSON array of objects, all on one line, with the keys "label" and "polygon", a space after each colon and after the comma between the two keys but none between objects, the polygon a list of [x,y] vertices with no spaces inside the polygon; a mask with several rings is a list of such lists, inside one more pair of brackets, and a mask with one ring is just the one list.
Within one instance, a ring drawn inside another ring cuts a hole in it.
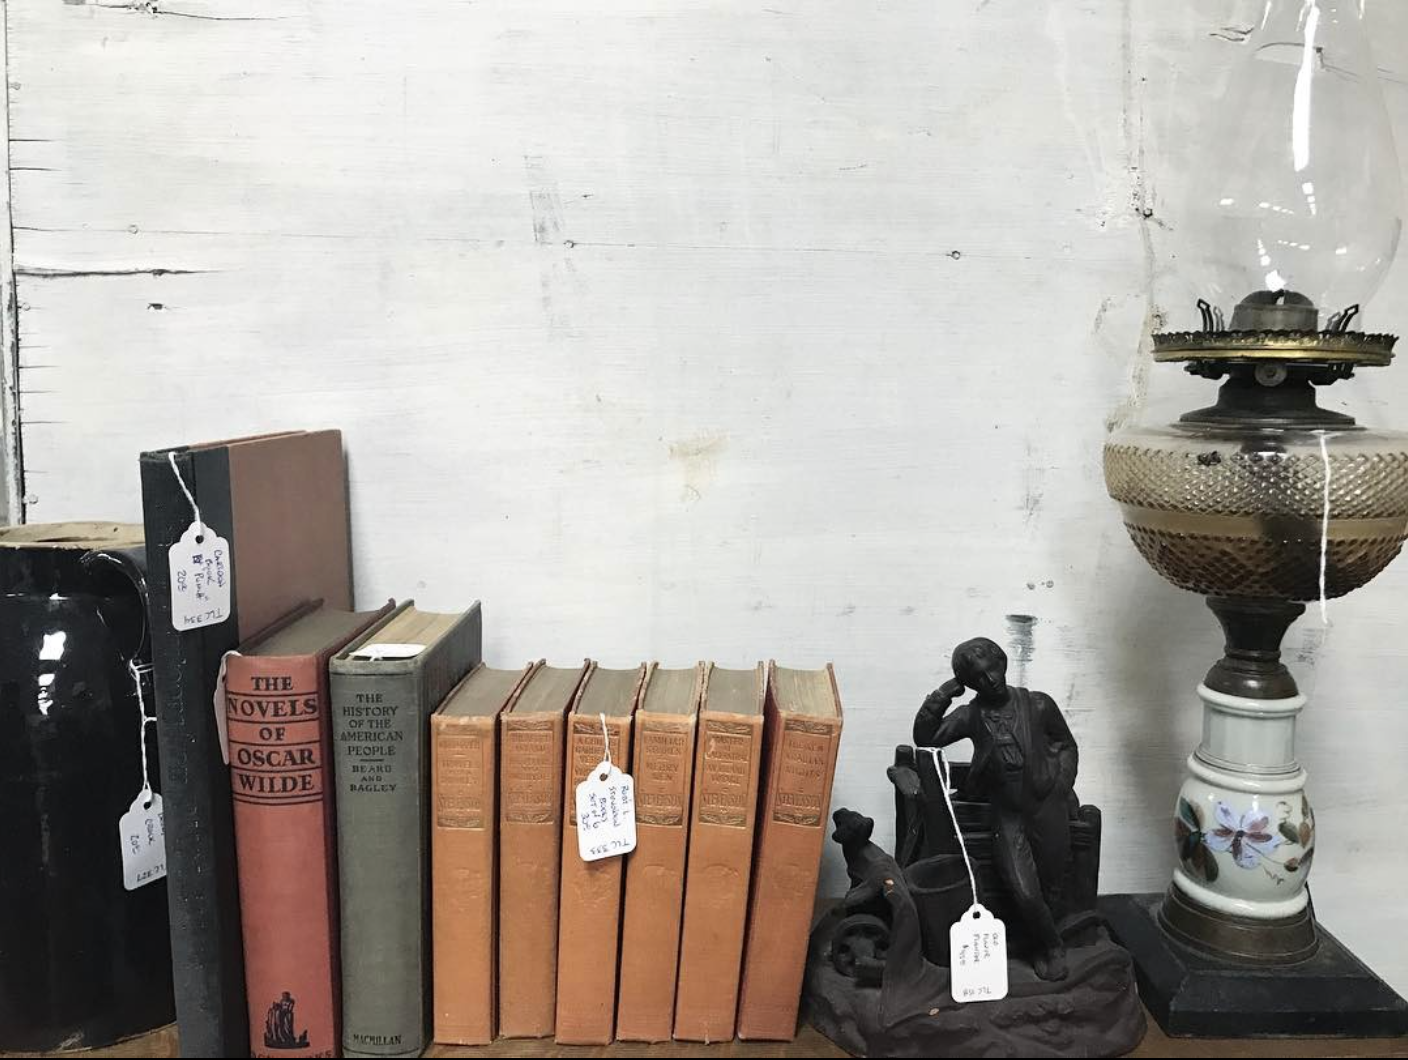
[{"label": "whole oil lamp with glass chimney and floral-painted white stem", "polygon": [[1226,641],[1197,690],[1173,883],[1105,901],[1170,1033],[1408,1032],[1408,1005],[1315,922],[1305,697],[1280,662],[1307,601],[1359,588],[1408,536],[1408,435],[1316,401],[1394,356],[1394,336],[1354,329],[1402,228],[1360,3],[1266,3],[1177,225],[1197,328],[1153,336],[1155,360],[1221,381],[1217,401],[1105,445],[1133,543]]}]

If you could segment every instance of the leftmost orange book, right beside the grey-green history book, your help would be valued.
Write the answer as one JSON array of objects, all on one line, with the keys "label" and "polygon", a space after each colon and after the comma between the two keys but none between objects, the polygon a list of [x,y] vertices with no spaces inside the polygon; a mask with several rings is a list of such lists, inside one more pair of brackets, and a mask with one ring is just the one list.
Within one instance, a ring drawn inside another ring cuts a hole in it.
[{"label": "leftmost orange book, right beside the grey-green history book", "polygon": [[431,715],[434,1035],[494,1040],[498,715],[532,673],[476,666]]}]

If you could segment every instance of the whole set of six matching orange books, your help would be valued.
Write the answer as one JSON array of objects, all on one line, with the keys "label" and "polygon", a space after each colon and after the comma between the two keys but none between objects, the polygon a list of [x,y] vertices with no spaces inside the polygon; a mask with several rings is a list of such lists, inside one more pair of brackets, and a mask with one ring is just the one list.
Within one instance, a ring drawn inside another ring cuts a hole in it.
[{"label": "whole set of six matching orange books", "polygon": [[[829,666],[476,667],[431,719],[435,1040],[793,1037],[839,738]],[[636,846],[584,862],[608,742]]]}]

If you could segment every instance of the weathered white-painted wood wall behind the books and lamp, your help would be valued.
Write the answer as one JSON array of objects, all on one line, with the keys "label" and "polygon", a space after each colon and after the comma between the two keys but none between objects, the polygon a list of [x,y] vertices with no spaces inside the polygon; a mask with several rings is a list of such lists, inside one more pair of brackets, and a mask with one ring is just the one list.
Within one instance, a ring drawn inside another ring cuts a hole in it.
[{"label": "weathered white-painted wood wall behind the books and lamp", "polygon": [[[1408,4],[1371,4],[1408,158]],[[141,449],[346,434],[358,597],[500,664],[834,660],[835,802],[1036,618],[1105,890],[1162,888],[1219,638],[1105,500],[1231,0],[8,0],[31,521]],[[1231,27],[1231,28],[1229,28]],[[1371,307],[1408,331],[1408,266]],[[1332,398],[1408,425],[1408,366]],[[1150,411],[1152,410],[1152,411]],[[1322,921],[1408,991],[1408,560],[1308,615]],[[828,884],[842,885],[839,862]]]}]

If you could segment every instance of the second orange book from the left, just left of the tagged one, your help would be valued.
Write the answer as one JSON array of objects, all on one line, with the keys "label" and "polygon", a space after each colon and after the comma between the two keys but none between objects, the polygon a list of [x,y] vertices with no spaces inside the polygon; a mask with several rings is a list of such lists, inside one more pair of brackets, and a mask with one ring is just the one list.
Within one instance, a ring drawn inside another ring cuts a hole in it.
[{"label": "second orange book from the left, just left of the tagged one", "polygon": [[498,1033],[548,1037],[558,995],[566,717],[587,666],[538,663],[498,715]]}]

